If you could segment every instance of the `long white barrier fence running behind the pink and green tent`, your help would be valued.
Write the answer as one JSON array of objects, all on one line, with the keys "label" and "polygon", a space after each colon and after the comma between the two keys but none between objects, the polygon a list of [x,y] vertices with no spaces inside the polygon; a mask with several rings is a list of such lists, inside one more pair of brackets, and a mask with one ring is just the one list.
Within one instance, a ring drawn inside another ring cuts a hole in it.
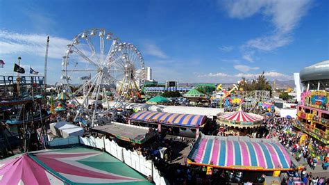
[{"label": "long white barrier fence running behind the pink and green tent", "polygon": [[151,160],[146,160],[142,154],[137,154],[136,151],[131,152],[124,147],[120,147],[113,140],[103,138],[94,138],[93,136],[76,137],[70,136],[69,138],[55,138],[49,142],[49,146],[58,147],[60,145],[74,145],[83,144],[90,147],[96,147],[101,150],[106,150],[115,158],[126,163],[131,168],[134,168],[138,172],[142,173],[146,177],[151,175],[155,184],[169,184],[167,180],[160,175],[160,172],[155,168]]}]

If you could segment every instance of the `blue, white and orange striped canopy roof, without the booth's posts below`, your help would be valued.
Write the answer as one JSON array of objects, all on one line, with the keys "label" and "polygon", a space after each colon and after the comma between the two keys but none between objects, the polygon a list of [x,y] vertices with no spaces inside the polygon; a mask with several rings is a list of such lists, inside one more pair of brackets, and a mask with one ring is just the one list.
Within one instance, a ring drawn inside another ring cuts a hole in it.
[{"label": "blue, white and orange striped canopy roof, without the booth's posts below", "polygon": [[130,120],[160,122],[185,127],[199,127],[205,123],[205,115],[162,113],[157,111],[139,111],[130,115]]}]

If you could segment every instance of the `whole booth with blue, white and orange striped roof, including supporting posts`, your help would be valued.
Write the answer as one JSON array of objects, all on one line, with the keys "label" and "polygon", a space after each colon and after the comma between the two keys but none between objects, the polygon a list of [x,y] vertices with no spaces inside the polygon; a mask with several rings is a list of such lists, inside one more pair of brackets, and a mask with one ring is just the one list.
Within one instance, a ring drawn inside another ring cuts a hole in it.
[{"label": "whole booth with blue, white and orange striped roof, including supporting posts", "polygon": [[205,115],[165,113],[157,111],[139,111],[130,115],[129,123],[137,124],[155,124],[158,125],[158,131],[163,128],[172,129],[179,136],[197,138],[199,128],[207,122]]}]

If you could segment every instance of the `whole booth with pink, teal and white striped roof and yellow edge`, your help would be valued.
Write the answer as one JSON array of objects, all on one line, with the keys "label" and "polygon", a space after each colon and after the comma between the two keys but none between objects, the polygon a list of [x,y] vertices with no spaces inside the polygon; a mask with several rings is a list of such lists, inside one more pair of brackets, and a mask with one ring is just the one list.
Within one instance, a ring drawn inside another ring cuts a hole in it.
[{"label": "whole booth with pink, teal and white striped roof and yellow edge", "polygon": [[301,170],[285,147],[269,139],[246,136],[206,136],[200,134],[187,156],[192,166],[238,170],[253,174],[261,172],[279,177],[282,171]]}]

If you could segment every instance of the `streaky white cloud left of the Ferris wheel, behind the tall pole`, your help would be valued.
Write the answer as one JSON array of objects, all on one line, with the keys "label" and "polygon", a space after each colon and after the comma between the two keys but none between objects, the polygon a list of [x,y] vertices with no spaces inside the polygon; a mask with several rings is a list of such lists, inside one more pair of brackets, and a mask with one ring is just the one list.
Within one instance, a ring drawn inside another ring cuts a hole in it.
[{"label": "streaky white cloud left of the Ferris wheel, behind the tall pole", "polygon": [[[50,36],[49,58],[62,58],[70,40]],[[0,30],[0,54],[30,54],[44,57],[47,35],[12,33]]]}]

